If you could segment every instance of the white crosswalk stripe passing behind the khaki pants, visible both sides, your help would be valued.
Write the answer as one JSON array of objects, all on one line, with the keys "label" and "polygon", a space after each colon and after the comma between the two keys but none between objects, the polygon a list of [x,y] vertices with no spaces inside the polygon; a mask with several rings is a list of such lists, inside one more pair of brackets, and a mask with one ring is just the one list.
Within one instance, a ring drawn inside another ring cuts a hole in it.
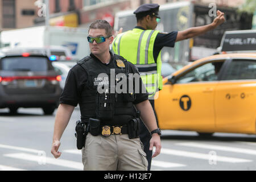
[{"label": "white crosswalk stripe passing behind the khaki pants, visible both sides", "polygon": [[[81,151],[80,150],[64,150],[63,152],[67,152],[69,154],[81,155]],[[186,165],[178,164],[178,163],[164,162],[164,161],[152,159],[151,166],[170,168],[170,167],[184,167]]]}]

